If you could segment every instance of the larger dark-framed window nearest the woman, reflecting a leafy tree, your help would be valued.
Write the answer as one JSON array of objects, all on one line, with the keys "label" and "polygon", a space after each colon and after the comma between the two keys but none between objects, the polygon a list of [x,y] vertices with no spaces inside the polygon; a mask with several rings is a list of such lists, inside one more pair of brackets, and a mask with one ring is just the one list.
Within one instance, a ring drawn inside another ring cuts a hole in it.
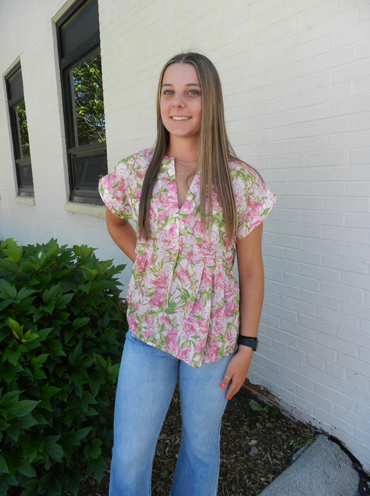
[{"label": "larger dark-framed window nearest the woman, reflecting a leafy tree", "polygon": [[103,205],[108,173],[97,0],[79,0],[56,24],[69,166],[69,200]]}]

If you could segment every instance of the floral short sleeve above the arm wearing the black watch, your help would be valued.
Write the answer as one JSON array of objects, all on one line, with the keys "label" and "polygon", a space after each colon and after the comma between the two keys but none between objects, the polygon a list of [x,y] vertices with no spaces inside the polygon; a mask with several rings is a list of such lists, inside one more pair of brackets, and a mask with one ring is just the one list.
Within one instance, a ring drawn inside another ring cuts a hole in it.
[{"label": "floral short sleeve above the arm wearing the black watch", "polygon": [[276,196],[251,167],[241,164],[234,173],[233,187],[238,214],[235,241],[240,241],[264,221],[274,207]]}]

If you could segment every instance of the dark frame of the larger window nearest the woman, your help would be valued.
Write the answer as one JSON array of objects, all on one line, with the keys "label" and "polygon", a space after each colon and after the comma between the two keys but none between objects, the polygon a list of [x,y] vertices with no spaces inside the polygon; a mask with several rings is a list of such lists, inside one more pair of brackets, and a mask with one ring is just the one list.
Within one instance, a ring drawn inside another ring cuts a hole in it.
[{"label": "dark frame of the larger window nearest the woman", "polygon": [[[56,33],[58,40],[58,56],[60,63],[60,81],[62,87],[62,105],[63,105],[63,117],[65,123],[65,137],[67,146],[67,161],[68,161],[68,177],[69,177],[69,201],[74,203],[88,203],[92,205],[103,205],[103,200],[98,191],[98,184],[96,183],[96,190],[90,188],[76,188],[74,185],[74,167],[73,167],[73,157],[78,153],[81,157],[89,157],[90,155],[95,155],[96,153],[105,154],[107,153],[106,142],[88,144],[85,146],[76,146],[75,142],[75,126],[74,126],[74,95],[72,94],[71,80],[69,77],[69,70],[74,67],[78,61],[85,58],[90,53],[96,51],[100,48],[100,33],[94,31],[92,35],[87,37],[81,44],[76,46],[76,48],[63,57],[62,53],[62,26],[73,17],[76,12],[83,8],[86,3],[96,2],[97,0],[77,0],[74,2],[73,6],[65,12],[58,22],[56,22]],[[108,173],[108,162],[106,161],[106,171]]]}]

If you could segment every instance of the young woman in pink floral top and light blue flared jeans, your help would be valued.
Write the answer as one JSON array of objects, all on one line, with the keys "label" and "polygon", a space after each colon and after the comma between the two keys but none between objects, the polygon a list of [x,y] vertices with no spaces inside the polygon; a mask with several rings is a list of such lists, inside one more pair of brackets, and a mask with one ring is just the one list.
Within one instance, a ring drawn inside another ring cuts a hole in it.
[{"label": "young woman in pink floral top and light blue flared jeans", "polygon": [[108,231],[135,262],[110,496],[151,495],[155,445],[177,381],[183,434],[171,496],[215,496],[221,418],[257,348],[262,221],[275,196],[230,146],[219,75],[204,55],[167,62],[157,112],[154,148],[99,182]]}]

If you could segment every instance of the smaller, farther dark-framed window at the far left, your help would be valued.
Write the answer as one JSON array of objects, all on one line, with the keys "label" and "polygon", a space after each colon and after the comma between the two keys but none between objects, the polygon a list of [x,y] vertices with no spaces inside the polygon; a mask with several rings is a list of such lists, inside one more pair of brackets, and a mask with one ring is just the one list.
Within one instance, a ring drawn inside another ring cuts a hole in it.
[{"label": "smaller, farther dark-framed window at the far left", "polygon": [[31,151],[28,139],[26,105],[24,103],[21,65],[17,64],[6,76],[10,128],[15,157],[19,196],[34,196]]}]

